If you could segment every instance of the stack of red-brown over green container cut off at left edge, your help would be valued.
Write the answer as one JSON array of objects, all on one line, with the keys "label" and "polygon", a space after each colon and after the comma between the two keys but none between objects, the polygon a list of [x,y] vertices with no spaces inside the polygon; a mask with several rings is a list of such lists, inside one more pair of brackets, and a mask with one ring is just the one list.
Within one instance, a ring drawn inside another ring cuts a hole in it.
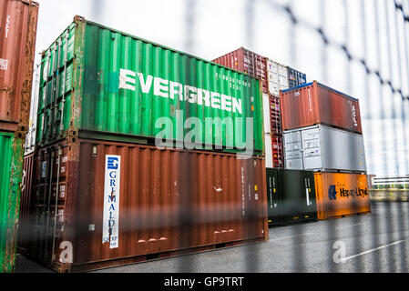
[{"label": "stack of red-brown over green container cut off at left edge", "polygon": [[0,272],[13,272],[38,4],[0,1]]}]

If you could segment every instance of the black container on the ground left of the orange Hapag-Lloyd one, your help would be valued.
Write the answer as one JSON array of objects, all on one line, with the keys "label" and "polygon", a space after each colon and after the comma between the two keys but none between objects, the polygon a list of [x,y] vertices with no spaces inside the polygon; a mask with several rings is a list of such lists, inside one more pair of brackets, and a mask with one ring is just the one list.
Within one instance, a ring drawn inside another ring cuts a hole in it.
[{"label": "black container on the ground left of the orange Hapag-Lloyd one", "polygon": [[269,225],[317,219],[314,173],[267,168]]}]

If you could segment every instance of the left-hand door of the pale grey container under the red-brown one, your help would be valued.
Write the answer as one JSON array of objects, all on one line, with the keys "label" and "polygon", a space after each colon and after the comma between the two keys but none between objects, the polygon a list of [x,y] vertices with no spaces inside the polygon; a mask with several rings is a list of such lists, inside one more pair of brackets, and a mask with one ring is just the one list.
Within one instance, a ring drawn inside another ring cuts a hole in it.
[{"label": "left-hand door of the pale grey container under the red-brown one", "polygon": [[301,132],[284,133],[284,159],[286,169],[303,169]]}]

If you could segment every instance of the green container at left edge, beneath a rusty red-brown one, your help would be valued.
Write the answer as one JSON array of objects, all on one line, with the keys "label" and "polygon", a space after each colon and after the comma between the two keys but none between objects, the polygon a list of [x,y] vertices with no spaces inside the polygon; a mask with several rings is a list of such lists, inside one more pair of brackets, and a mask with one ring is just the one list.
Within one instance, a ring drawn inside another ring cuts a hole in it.
[{"label": "green container at left edge, beneath a rusty red-brown one", "polygon": [[0,133],[0,273],[14,272],[24,139]]}]

